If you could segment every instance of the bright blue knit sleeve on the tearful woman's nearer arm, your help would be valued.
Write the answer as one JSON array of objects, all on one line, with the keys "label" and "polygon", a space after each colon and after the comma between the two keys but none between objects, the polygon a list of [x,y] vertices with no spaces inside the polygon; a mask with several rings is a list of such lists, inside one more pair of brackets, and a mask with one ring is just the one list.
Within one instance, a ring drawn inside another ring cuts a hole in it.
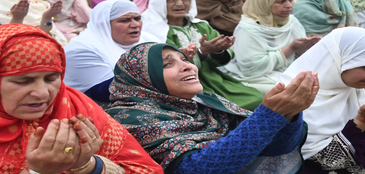
[{"label": "bright blue knit sleeve on the tearful woman's nearer arm", "polygon": [[289,120],[261,104],[227,136],[186,156],[174,173],[235,173],[258,156],[287,124]]}]

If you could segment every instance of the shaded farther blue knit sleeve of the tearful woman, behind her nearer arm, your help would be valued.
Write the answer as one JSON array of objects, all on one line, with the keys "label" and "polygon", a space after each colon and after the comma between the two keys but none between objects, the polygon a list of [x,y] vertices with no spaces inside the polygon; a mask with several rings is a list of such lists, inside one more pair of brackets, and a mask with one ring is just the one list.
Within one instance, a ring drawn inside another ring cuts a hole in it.
[{"label": "shaded farther blue knit sleeve of the tearful woman, behind her nearer arm", "polygon": [[260,156],[278,156],[293,151],[301,137],[302,125],[303,112],[300,112],[296,121],[288,123],[280,129],[271,143],[261,152]]}]

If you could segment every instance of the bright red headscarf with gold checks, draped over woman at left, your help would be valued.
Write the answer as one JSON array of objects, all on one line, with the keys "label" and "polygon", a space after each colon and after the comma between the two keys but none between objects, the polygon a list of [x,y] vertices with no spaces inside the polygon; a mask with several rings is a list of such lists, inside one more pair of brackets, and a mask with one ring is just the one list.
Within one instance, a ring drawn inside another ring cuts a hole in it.
[{"label": "bright red headscarf with gold checks, draped over woman at left", "polygon": [[[23,24],[0,25],[0,81],[2,76],[35,71],[65,74],[65,53],[59,43],[39,28]],[[103,144],[96,154],[124,167],[127,173],[163,173],[127,130],[83,93],[62,81],[54,101],[41,119],[20,120],[8,115],[0,103],[0,173],[20,173],[27,166],[25,152],[31,134],[47,128],[52,119],[81,113],[94,120]]]}]

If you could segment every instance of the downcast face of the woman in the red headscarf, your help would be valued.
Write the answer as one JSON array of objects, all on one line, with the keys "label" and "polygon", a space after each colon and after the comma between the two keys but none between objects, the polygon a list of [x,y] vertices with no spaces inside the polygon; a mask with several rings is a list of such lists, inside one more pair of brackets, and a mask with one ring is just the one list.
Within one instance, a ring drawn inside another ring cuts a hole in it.
[{"label": "downcast face of the woman in the red headscarf", "polygon": [[40,119],[61,86],[61,73],[38,71],[1,77],[1,105],[12,117]]}]

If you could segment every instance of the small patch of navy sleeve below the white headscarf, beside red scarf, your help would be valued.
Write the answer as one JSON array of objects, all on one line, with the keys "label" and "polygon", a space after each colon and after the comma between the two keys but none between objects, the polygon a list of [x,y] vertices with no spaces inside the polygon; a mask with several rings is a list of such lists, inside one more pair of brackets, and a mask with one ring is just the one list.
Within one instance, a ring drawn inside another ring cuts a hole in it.
[{"label": "small patch of navy sleeve below the white headscarf, beside red scarf", "polygon": [[109,86],[110,86],[111,82],[113,81],[113,79],[114,79],[114,77],[91,87],[90,89],[86,90],[84,94],[87,95],[88,97],[92,98],[93,100],[96,100],[99,102],[106,102],[106,103],[110,102],[109,101],[109,96],[110,96]]}]

